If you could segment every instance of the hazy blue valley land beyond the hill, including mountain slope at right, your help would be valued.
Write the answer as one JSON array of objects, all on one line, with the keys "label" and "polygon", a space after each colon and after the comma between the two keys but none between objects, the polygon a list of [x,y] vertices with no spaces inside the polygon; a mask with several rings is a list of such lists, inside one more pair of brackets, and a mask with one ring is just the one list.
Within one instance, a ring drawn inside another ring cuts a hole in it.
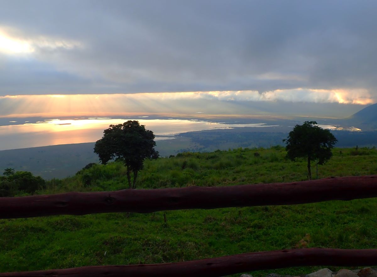
[{"label": "hazy blue valley land beyond the hill, including mountain slope at right", "polygon": [[[284,145],[286,138],[296,124],[302,124],[311,118],[268,119],[263,120],[271,127],[235,127],[183,132],[171,135],[169,140],[157,140],[156,149],[162,157],[179,152],[209,152],[216,149],[234,148],[269,148]],[[260,119],[223,118],[224,123],[250,124]],[[336,147],[373,147],[377,146],[377,104],[368,106],[356,114],[344,119],[318,119],[320,125],[332,128],[331,132],[338,139]],[[362,131],[348,131],[359,128]],[[156,138],[166,138],[157,135]],[[0,171],[14,168],[16,171],[30,171],[44,179],[64,178],[74,175],[88,163],[99,162],[93,152],[94,142],[66,145],[53,145],[24,149],[0,151]]]}]

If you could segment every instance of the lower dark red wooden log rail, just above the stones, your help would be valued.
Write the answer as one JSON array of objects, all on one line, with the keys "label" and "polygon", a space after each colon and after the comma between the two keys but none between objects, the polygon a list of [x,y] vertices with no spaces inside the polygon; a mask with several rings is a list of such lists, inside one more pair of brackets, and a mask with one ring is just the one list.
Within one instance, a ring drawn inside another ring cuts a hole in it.
[{"label": "lower dark red wooden log rail, just above the stones", "polygon": [[84,266],[44,271],[7,272],[0,277],[218,277],[246,271],[292,266],[377,265],[377,249],[307,248],[254,252],[179,263]]}]

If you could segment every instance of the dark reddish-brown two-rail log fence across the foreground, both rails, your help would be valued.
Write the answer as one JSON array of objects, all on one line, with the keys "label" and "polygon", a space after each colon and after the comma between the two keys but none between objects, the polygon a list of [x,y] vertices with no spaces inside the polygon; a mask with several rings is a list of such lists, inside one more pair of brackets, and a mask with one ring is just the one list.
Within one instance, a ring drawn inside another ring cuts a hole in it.
[{"label": "dark reddish-brown two-rail log fence across the foreground, both rails", "polygon": [[[0,218],[101,212],[154,212],[242,206],[291,205],[328,200],[377,197],[377,175],[327,178],[295,183],[169,189],[126,189],[114,192],[69,192],[55,195],[0,198]],[[218,277],[245,271],[292,266],[377,265],[377,249],[287,249],[255,252],[179,263],[125,266],[84,266],[0,277]]]}]

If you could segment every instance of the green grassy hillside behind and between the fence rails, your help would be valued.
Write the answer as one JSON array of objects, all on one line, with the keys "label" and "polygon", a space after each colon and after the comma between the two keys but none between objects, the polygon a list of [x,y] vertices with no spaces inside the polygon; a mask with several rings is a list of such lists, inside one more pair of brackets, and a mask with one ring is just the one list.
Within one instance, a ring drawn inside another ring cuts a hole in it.
[{"label": "green grassy hillside behind and between the fence rails", "polygon": [[[260,156],[254,156],[258,152]],[[334,149],[318,177],[377,174],[375,148]],[[138,188],[231,186],[306,180],[305,160],[291,162],[285,150],[234,149],[183,153],[146,161]],[[315,177],[315,168],[312,169]],[[41,194],[126,188],[120,163],[95,165]],[[284,248],[377,248],[377,200],[306,205],[95,214],[0,220],[0,272],[85,265],[163,263]],[[325,265],[324,265],[325,266]],[[316,270],[288,268],[253,272],[297,275]],[[335,270],[336,268],[330,268]],[[237,274],[238,275],[238,274]],[[237,276],[235,275],[235,276]]]}]

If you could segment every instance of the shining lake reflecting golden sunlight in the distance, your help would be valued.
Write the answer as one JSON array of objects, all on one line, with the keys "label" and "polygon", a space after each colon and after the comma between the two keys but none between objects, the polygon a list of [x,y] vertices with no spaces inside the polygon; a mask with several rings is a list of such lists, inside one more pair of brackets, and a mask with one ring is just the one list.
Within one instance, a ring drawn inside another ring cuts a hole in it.
[{"label": "shining lake reflecting golden sunlight in the distance", "polygon": [[[120,124],[127,120],[138,120],[146,129],[157,135],[156,140],[172,139],[172,135],[189,131],[229,129],[235,127],[271,127],[265,123],[237,124],[237,122],[208,122],[185,119],[146,119],[143,118],[77,118],[45,119],[32,122],[25,118],[12,118],[0,126],[0,150],[29,148],[47,145],[95,142],[103,135],[110,124]],[[276,126],[276,125],[272,125]],[[169,137],[170,136],[170,137]]]}]

